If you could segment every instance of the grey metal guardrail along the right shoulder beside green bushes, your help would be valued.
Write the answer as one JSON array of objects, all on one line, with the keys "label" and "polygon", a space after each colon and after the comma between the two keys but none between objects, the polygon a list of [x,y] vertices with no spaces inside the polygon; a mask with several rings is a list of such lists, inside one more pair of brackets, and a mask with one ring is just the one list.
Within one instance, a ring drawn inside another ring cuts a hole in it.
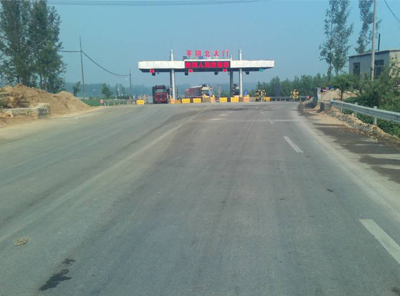
[{"label": "grey metal guardrail along the right shoulder beside green bushes", "polygon": [[343,109],[353,111],[355,117],[357,117],[358,113],[369,115],[374,118],[374,125],[377,124],[377,118],[400,124],[400,113],[397,112],[379,110],[376,106],[374,106],[374,108],[369,108],[369,107],[359,106],[357,104],[344,103],[335,100],[331,100],[330,103],[331,106],[339,108],[341,112]]}]

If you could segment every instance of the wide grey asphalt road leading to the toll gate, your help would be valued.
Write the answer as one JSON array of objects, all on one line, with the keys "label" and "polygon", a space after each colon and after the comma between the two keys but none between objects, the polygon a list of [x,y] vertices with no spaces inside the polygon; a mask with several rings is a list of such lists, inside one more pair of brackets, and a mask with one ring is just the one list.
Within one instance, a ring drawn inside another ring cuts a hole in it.
[{"label": "wide grey asphalt road leading to the toll gate", "polygon": [[46,124],[0,133],[0,295],[400,295],[399,184],[296,103]]}]

